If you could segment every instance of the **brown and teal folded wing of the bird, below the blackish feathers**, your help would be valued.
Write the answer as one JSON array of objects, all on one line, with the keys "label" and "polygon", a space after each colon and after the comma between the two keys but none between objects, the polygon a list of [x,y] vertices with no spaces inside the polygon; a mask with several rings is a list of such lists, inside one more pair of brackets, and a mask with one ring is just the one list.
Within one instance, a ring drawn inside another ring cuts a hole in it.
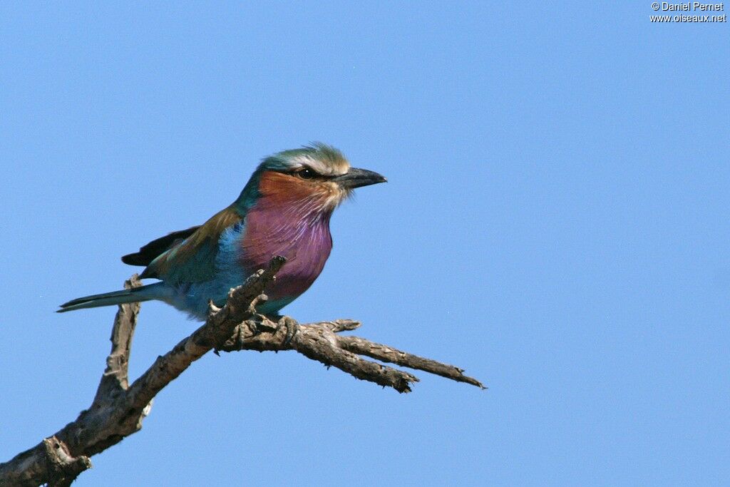
[{"label": "brown and teal folded wing of the bird, below the blackish feathers", "polygon": [[157,256],[139,277],[156,277],[172,285],[209,280],[215,275],[220,234],[241,221],[241,215],[232,207],[216,213],[190,236]]}]

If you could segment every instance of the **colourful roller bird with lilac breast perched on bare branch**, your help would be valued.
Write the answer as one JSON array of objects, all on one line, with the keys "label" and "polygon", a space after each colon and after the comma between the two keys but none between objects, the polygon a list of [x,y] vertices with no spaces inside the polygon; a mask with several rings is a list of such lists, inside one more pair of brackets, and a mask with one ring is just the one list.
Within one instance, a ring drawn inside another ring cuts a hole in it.
[{"label": "colourful roller bird with lilac breast perched on bare branch", "polygon": [[322,272],[332,248],[332,212],[355,188],[385,182],[321,142],[274,153],[262,159],[238,198],[208,221],[122,257],[125,264],[145,266],[141,279],[158,282],[72,299],[58,312],[157,300],[205,321],[210,302],[223,307],[231,288],[283,256],[286,265],[265,290],[269,299],[257,307],[276,316]]}]

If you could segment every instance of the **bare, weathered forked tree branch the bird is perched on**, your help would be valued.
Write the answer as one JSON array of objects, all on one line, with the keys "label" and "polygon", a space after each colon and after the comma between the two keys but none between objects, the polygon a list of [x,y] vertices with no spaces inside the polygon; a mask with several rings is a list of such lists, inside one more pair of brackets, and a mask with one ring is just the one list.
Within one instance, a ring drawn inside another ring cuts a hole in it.
[{"label": "bare, weathered forked tree branch the bird is perched on", "polygon": [[[423,370],[458,382],[484,388],[482,383],[463,374],[462,369],[402,352],[388,345],[364,338],[340,336],[360,323],[352,320],[323,321],[300,325],[284,316],[277,322],[255,311],[266,300],[266,285],[274,279],[285,258],[272,259],[269,268],[251,275],[228,294],[220,309],[212,304],[206,323],[174,346],[131,386],[128,363],[139,303],[120,304],[112,328],[112,350],[101,376],[91,407],[76,421],[67,424],[33,448],[0,464],[0,487],[69,486],[85,469],[91,468],[89,457],[117,444],[142,428],[156,394],[172,382],[193,361],[210,350],[296,350],[307,358],[333,366],[353,377],[410,392],[418,377],[363,356],[391,364]],[[137,275],[125,287],[139,286]]]}]

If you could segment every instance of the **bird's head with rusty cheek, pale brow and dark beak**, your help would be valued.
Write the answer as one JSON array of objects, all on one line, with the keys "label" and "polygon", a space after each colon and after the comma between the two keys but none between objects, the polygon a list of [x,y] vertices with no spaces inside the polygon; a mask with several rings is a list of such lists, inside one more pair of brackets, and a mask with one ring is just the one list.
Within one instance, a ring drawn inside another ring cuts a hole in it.
[{"label": "bird's head with rusty cheek, pale brow and dark beak", "polygon": [[385,177],[351,167],[339,150],[314,143],[264,158],[238,202],[251,207],[263,198],[268,204],[331,212],[353,189],[377,183],[385,183]]}]

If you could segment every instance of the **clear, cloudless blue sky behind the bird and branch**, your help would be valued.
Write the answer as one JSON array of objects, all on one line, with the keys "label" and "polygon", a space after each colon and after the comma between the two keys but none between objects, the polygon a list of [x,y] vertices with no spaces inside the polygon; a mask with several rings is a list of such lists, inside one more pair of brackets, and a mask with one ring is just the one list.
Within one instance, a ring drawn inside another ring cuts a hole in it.
[{"label": "clear, cloudless blue sky behind the bird and branch", "polygon": [[728,24],[547,3],[0,5],[0,461],[98,384],[114,310],[55,307],[321,140],[389,183],[285,312],[489,390],[205,356],[74,485],[730,483]]}]

